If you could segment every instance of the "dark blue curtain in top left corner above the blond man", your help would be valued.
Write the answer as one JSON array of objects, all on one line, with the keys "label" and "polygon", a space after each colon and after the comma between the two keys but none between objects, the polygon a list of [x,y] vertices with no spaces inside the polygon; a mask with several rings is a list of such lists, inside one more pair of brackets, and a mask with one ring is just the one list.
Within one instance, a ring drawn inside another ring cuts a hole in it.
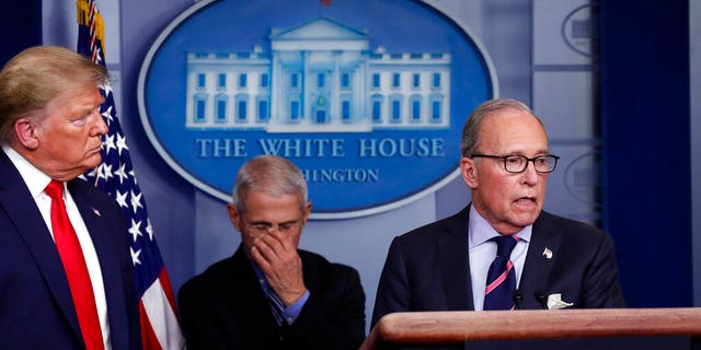
[{"label": "dark blue curtain in top left corner above the blond man", "polygon": [[42,0],[3,3],[0,38],[0,67],[21,50],[42,44]]}]

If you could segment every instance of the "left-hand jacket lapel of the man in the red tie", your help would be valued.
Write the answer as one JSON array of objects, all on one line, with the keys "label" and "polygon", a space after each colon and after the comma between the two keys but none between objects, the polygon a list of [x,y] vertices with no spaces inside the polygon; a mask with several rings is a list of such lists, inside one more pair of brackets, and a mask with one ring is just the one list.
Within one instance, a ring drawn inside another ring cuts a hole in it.
[{"label": "left-hand jacket lapel of the man in the red tie", "polygon": [[18,234],[22,236],[46,285],[76,336],[82,339],[64,265],[51,233],[46,228],[26,184],[2,150],[0,150],[0,207],[8,213]]}]

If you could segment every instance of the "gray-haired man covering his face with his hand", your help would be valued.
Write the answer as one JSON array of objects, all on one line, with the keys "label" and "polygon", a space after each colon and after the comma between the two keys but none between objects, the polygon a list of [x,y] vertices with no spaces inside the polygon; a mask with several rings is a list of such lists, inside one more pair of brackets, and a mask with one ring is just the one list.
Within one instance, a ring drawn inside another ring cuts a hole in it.
[{"label": "gray-haired man covering his face with his hand", "polygon": [[189,349],[357,349],[365,338],[358,272],[298,249],[311,210],[289,161],[260,155],[237,174],[227,206],[235,254],[179,293]]}]

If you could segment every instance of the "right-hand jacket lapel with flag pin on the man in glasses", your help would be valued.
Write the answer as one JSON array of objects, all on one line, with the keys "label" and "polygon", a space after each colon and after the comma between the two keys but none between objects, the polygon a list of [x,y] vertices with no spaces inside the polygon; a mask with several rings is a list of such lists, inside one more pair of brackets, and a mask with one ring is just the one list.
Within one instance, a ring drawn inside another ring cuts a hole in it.
[{"label": "right-hand jacket lapel with flag pin on the man in glasses", "polygon": [[548,292],[548,279],[554,262],[558,260],[562,235],[555,234],[548,222],[549,214],[542,211],[533,223],[531,242],[528,245],[528,254],[526,255],[519,285],[524,293],[525,308],[541,308],[536,299],[536,291]]}]

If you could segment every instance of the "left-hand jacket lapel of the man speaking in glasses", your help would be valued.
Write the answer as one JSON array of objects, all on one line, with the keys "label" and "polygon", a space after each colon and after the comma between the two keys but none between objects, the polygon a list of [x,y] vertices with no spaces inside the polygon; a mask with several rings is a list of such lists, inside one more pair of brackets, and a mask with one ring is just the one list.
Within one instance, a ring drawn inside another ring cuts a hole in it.
[{"label": "left-hand jacket lapel of the man speaking in glasses", "polygon": [[449,218],[439,234],[438,259],[447,307],[449,311],[474,310],[469,282],[468,209]]}]

